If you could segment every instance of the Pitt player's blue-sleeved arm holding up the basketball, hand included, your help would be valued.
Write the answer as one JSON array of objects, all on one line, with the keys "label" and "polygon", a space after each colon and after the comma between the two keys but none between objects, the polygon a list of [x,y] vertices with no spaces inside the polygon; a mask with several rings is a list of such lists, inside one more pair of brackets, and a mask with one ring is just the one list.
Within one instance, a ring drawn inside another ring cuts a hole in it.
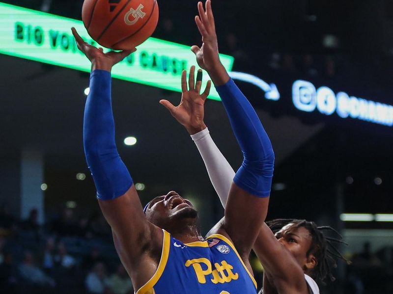
[{"label": "Pitt player's blue-sleeved arm holding up the basketball, hand included", "polygon": [[133,274],[136,269],[143,268],[141,261],[148,255],[146,251],[155,245],[162,246],[163,236],[160,229],[146,220],[133,180],[117,152],[111,101],[112,66],[132,51],[103,53],[84,42],[74,28],[72,31],[78,48],[92,64],[90,93],[84,110],[86,161],[97,189],[99,205],[112,227],[120,259],[134,286],[143,285],[146,278],[140,277],[150,278],[155,271],[154,263],[144,274],[138,277]]}]

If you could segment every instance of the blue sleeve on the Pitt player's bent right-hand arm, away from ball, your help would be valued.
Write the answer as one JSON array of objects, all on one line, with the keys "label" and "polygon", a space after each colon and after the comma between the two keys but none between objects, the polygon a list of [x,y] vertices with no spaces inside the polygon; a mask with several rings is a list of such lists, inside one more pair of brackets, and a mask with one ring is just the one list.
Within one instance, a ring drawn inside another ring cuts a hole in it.
[{"label": "blue sleeve on the Pitt player's bent right-hand arm, away from ball", "polygon": [[244,156],[233,181],[255,196],[268,197],[274,168],[270,139],[252,105],[232,79],[216,89]]}]

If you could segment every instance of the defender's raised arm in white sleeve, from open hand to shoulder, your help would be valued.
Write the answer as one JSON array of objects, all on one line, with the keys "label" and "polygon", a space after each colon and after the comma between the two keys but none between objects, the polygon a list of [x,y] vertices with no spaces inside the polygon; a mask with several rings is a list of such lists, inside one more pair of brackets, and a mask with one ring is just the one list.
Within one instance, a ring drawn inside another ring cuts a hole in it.
[{"label": "defender's raised arm in white sleeve, from open hand to shoulder", "polygon": [[[210,181],[225,208],[235,171],[214,143],[203,121],[203,105],[207,92],[205,90],[202,95],[199,94],[200,80],[201,72],[198,72],[197,84],[194,87],[192,67],[189,77],[190,90],[187,89],[185,72],[182,75],[183,95],[180,105],[174,107],[166,100],[160,102],[191,135],[205,163]],[[267,283],[274,280],[274,287],[279,293],[306,293],[307,285],[302,268],[290,252],[281,246],[265,223],[262,224],[253,249],[265,269],[265,292],[269,289]]]}]

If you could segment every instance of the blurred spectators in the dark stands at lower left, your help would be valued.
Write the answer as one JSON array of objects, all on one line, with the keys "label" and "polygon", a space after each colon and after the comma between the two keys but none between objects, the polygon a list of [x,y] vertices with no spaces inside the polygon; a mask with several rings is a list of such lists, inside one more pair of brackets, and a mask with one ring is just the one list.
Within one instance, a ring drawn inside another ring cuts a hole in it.
[{"label": "blurred spectators in the dark stands at lower left", "polygon": [[133,294],[102,216],[77,219],[72,209],[41,226],[0,211],[0,293]]}]

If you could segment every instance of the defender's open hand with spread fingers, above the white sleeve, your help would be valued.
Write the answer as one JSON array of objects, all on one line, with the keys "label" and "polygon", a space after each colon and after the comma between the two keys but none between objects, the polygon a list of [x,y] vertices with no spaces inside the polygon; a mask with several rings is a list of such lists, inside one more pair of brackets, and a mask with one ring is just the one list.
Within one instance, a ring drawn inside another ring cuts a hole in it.
[{"label": "defender's open hand with spread fingers, above the white sleeve", "polygon": [[187,71],[183,71],[181,75],[182,96],[178,106],[173,106],[168,100],[160,100],[160,104],[165,106],[170,114],[182,124],[189,134],[196,134],[204,129],[206,125],[203,122],[204,103],[209,95],[211,81],[206,84],[206,88],[200,94],[202,85],[202,71],[198,71],[197,82],[195,83],[195,66],[190,69],[190,76],[187,88]]}]

